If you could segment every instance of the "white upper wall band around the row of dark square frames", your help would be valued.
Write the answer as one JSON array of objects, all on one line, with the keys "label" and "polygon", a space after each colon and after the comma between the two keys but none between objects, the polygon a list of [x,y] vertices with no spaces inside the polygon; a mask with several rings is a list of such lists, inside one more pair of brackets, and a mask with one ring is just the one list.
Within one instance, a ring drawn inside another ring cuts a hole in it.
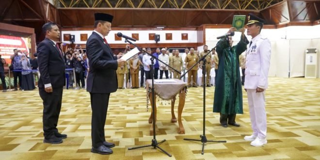
[{"label": "white upper wall band around the row of dark square frames", "polygon": [[[111,31],[106,39],[109,44],[126,44],[125,39],[122,41],[115,41],[114,34],[117,32],[121,32],[124,35],[131,37],[132,33],[139,33],[139,40],[136,41],[136,44],[142,43],[156,43],[154,40],[149,40],[149,33],[160,34],[160,41],[158,43],[197,43],[197,31]],[[165,40],[165,33],[172,33],[172,40]],[[188,40],[181,40],[181,33],[188,33]],[[88,34],[89,36],[92,34],[92,31],[62,31],[62,35],[64,34],[72,34],[75,35],[75,44],[85,44],[86,41],[80,41],[80,34]],[[64,43],[70,43],[69,41],[63,41]]]}]

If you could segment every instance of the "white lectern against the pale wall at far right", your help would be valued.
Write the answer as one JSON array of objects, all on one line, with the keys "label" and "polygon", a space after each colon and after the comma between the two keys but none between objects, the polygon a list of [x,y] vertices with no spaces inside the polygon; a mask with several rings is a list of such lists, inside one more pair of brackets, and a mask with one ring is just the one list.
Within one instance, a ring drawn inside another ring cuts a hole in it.
[{"label": "white lectern against the pale wall at far right", "polygon": [[317,78],[317,48],[307,48],[305,50],[305,67],[304,77],[305,78]]}]

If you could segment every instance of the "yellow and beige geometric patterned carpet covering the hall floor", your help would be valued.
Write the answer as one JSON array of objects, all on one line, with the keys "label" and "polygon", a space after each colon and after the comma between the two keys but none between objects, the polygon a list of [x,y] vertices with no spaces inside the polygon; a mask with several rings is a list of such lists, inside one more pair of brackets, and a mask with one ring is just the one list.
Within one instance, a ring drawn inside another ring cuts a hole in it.
[{"label": "yellow and beige geometric patterned carpet covering the hall floor", "polygon": [[[200,139],[203,133],[202,88],[189,88],[182,123],[186,134],[177,134],[171,123],[169,101],[157,101],[157,140],[168,157],[152,147],[128,150],[128,147],[151,144],[150,124],[144,89],[118,90],[111,95],[105,126],[107,141],[116,144],[111,155],[99,155],[91,149],[90,96],[84,90],[64,90],[58,127],[67,134],[63,144],[43,144],[42,100],[38,91],[0,93],[1,160],[213,160],[213,159],[320,159],[320,79],[270,78],[266,93],[268,144],[253,147],[243,140],[251,134],[247,97],[243,92],[244,114],[237,116],[241,126],[223,128],[219,114],[212,112],[214,87],[207,88],[206,135],[208,140],[227,143],[202,144],[184,141]],[[176,117],[177,117],[176,100]],[[150,108],[150,105],[149,105]]]}]

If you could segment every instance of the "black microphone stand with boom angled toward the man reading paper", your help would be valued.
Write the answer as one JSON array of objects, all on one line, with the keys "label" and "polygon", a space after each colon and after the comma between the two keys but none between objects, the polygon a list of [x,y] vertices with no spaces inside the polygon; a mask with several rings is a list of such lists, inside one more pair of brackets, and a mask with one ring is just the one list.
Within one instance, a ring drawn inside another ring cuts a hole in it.
[{"label": "black microphone stand with boom angled toward the man reading paper", "polygon": [[[148,54],[146,51],[142,50],[141,48],[139,48],[138,46],[136,46],[135,44],[133,44],[131,41],[129,41],[128,39],[125,40],[125,42],[128,42],[129,44],[135,46],[136,48],[138,48],[140,51],[143,51],[145,52],[146,54]],[[165,139],[162,140],[161,142],[157,142],[157,139],[156,139],[156,116],[155,116],[155,88],[154,88],[154,69],[153,69],[153,65],[154,65],[154,62],[153,60],[158,60],[159,62],[163,63],[162,61],[160,61],[157,57],[155,57],[154,55],[152,54],[149,54],[151,56],[150,60],[151,60],[151,65],[150,65],[150,72],[152,74],[152,88],[151,88],[151,94],[152,94],[152,125],[153,125],[153,139],[151,140],[151,144],[149,145],[142,145],[142,146],[138,146],[138,147],[129,147],[128,150],[131,150],[131,149],[138,149],[138,148],[144,148],[144,147],[149,147],[149,146],[152,146],[154,149],[158,148],[160,149],[162,152],[164,152],[165,154],[167,154],[169,157],[171,157],[172,155],[169,154],[167,151],[165,151],[164,149],[162,149],[159,144],[163,143],[164,141],[166,141]],[[165,63],[163,63],[165,64]],[[174,69],[173,67],[171,67],[170,65],[168,64],[165,64],[166,66],[170,67],[171,69],[175,70],[176,72],[178,72],[179,74],[181,74],[180,71]]]}]

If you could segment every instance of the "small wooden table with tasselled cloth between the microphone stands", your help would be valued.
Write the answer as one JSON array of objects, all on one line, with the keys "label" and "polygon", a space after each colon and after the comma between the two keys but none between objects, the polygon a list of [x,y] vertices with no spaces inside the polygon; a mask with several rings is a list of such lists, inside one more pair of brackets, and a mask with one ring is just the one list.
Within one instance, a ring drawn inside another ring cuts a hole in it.
[{"label": "small wooden table with tasselled cloth between the microphone stands", "polygon": [[[181,122],[181,114],[182,110],[184,107],[185,103],[185,96],[186,96],[186,91],[187,91],[187,83],[178,80],[178,79],[172,79],[172,82],[168,82],[170,80],[155,80],[154,85],[155,85],[155,94],[159,96],[163,100],[172,100],[171,102],[171,122],[175,123],[176,122],[176,115],[174,112],[175,108],[175,101],[176,101],[176,95],[179,94],[179,105],[178,105],[178,134],[185,134],[185,129],[183,127],[183,124]],[[146,89],[147,89],[147,96],[150,99],[150,103],[152,106],[152,80],[146,80]],[[155,96],[155,101],[156,101],[156,96]],[[157,105],[155,102],[155,120],[157,121]],[[153,112],[153,111],[152,111]],[[152,124],[153,121],[153,116],[151,115],[149,117],[149,124]],[[153,135],[153,124],[151,125],[150,128],[150,135]]]}]

